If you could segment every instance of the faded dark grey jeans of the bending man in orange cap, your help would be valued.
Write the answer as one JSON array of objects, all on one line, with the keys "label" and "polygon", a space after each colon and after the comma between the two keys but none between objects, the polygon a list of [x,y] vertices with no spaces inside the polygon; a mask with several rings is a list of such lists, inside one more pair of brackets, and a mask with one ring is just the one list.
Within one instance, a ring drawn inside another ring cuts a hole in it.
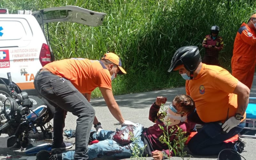
[{"label": "faded dark grey jeans of the bending man in orange cap", "polygon": [[63,142],[63,128],[66,111],[77,116],[76,148],[74,159],[88,159],[88,141],[95,110],[70,81],[48,71],[37,72],[34,85],[36,90],[55,108],[53,118],[53,145],[58,148]]}]

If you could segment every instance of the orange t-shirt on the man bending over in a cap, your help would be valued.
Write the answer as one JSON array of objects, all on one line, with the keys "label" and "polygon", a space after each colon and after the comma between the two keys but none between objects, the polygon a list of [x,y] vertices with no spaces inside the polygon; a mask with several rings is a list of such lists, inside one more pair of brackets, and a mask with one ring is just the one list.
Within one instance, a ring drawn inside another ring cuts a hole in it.
[{"label": "orange t-shirt on the man bending over in a cap", "polygon": [[96,87],[112,90],[111,76],[98,60],[65,59],[48,63],[44,68],[68,79],[81,93],[91,93]]}]

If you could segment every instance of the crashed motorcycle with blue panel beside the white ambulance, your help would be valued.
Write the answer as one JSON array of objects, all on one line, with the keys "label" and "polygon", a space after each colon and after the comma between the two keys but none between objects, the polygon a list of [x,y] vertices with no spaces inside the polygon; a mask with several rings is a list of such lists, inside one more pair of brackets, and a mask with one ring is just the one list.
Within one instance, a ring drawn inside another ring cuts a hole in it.
[{"label": "crashed motorcycle with blue panel beside the white ambulance", "polygon": [[[44,98],[19,92],[10,72],[7,77],[8,85],[0,78],[6,86],[6,92],[0,92],[0,135],[9,135],[7,147],[26,148],[31,134],[43,134],[44,139],[52,139],[49,121],[53,118],[54,107]],[[37,128],[40,128],[40,132]]]}]

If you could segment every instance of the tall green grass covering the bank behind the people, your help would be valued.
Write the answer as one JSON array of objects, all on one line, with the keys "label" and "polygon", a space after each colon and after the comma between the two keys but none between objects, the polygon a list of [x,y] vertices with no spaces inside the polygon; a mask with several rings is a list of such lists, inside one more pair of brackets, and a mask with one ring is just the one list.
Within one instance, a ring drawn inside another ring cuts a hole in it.
[{"label": "tall green grass covering the bank behind the people", "polygon": [[[252,0],[0,0],[0,8],[9,13],[65,5],[107,16],[100,27],[49,24],[55,58],[100,59],[107,51],[116,52],[127,75],[114,80],[114,94],[184,86],[177,72],[167,72],[172,55],[181,46],[196,45],[203,56],[201,43],[212,25],[220,27],[224,40],[220,64],[230,70],[237,29],[256,8]],[[92,97],[98,96],[99,90],[93,92]]]}]

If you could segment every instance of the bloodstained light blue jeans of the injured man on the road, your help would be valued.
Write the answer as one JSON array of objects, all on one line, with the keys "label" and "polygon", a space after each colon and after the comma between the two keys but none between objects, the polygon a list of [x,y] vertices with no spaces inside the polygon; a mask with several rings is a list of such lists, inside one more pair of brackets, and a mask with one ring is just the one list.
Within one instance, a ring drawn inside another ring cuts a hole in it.
[{"label": "bloodstained light blue jeans of the injured man on the road", "polygon": [[[138,127],[134,127],[134,141],[127,144],[121,145],[113,140],[113,136],[116,132],[101,130],[100,132],[95,132],[93,134],[93,139],[99,140],[98,143],[92,144],[88,148],[87,155],[89,159],[94,158],[109,158],[109,159],[120,159],[120,158],[128,158],[132,156],[134,151],[134,146],[140,150],[140,154],[142,155],[144,151],[144,143],[141,140],[141,133],[143,130],[143,126],[138,124]],[[122,129],[122,128],[121,128]],[[126,137],[126,135],[124,135]],[[74,151],[68,151],[66,153],[62,153],[62,160],[73,160],[74,159]]]}]

